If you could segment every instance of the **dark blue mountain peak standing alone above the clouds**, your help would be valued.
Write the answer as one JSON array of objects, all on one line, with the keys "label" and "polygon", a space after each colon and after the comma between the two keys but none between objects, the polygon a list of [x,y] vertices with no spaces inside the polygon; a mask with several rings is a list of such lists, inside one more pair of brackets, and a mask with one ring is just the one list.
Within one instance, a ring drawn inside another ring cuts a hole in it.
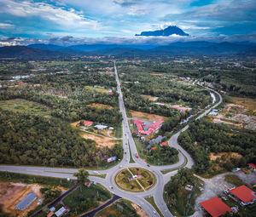
[{"label": "dark blue mountain peak standing alone above the clouds", "polygon": [[189,36],[189,34],[185,33],[182,29],[180,29],[177,26],[168,26],[168,27],[166,27],[166,29],[163,29],[163,30],[143,31],[141,34],[136,34],[135,36],[168,37],[168,36],[172,36],[173,34],[178,35],[178,36]]}]

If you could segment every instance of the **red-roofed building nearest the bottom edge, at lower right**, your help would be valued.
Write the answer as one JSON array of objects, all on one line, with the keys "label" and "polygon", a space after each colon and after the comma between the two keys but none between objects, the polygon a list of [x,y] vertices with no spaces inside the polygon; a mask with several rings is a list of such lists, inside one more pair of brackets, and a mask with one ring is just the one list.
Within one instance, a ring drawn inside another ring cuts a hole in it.
[{"label": "red-roofed building nearest the bottom edge, at lower right", "polygon": [[200,203],[200,205],[207,211],[208,214],[211,214],[212,217],[218,217],[225,214],[227,211],[231,211],[231,208],[218,197],[213,197]]}]

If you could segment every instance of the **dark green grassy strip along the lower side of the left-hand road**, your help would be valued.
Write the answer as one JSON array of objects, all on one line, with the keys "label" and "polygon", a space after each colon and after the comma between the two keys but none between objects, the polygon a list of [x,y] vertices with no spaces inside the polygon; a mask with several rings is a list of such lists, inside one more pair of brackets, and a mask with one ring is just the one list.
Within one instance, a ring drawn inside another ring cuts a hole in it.
[{"label": "dark green grassy strip along the lower side of the left-hand road", "polygon": [[32,174],[16,174],[0,171],[0,181],[23,182],[27,184],[38,183],[50,186],[74,186],[75,180],[59,179],[54,177],[45,177]]}]

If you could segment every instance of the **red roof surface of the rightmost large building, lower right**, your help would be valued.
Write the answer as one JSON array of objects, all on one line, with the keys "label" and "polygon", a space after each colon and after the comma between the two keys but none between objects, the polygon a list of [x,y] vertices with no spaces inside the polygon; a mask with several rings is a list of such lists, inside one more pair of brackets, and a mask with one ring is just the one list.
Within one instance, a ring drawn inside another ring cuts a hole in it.
[{"label": "red roof surface of the rightmost large building, lower right", "polygon": [[243,203],[253,201],[253,199],[256,198],[255,192],[249,189],[247,186],[236,187],[230,190],[230,192],[239,199],[241,199]]}]

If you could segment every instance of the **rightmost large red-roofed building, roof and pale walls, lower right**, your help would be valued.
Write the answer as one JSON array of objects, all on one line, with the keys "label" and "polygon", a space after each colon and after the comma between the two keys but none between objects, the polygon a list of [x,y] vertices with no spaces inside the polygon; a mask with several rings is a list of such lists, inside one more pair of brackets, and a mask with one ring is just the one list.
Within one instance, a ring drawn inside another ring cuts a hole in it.
[{"label": "rightmost large red-roofed building, roof and pale walls, lower right", "polygon": [[256,193],[247,186],[239,186],[230,189],[230,195],[235,197],[243,206],[254,203],[256,201]]}]

